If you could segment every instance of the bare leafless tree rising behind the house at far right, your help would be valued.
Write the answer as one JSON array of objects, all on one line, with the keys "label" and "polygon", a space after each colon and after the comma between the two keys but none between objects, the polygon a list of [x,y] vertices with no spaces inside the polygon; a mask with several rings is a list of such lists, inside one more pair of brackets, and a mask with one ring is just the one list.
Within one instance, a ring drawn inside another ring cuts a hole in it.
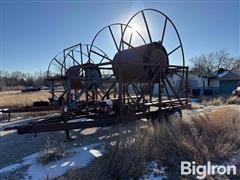
[{"label": "bare leafless tree rising behind the house at far right", "polygon": [[226,50],[202,54],[190,59],[190,62],[192,63],[191,70],[203,75],[210,75],[220,68],[240,69],[240,57],[233,57]]}]

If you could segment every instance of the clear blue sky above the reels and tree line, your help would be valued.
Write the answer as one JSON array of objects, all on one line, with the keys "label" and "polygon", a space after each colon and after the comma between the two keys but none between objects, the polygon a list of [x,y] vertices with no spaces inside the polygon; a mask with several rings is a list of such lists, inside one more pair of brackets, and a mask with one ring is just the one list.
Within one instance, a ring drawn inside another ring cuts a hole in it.
[{"label": "clear blue sky above the reels and tree line", "polygon": [[158,9],[175,23],[187,64],[194,56],[220,49],[240,56],[239,1],[0,2],[0,69],[4,71],[45,71],[64,48],[90,43],[102,27],[126,23],[143,8]]}]

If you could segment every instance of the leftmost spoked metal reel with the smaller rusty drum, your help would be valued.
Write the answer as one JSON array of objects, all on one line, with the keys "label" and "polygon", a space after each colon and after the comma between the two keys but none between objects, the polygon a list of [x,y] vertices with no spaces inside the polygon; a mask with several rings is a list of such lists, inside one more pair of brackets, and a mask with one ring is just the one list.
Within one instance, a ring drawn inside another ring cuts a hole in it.
[{"label": "leftmost spoked metal reel with the smaller rusty drum", "polygon": [[[104,54],[96,46],[93,46],[95,52]],[[101,72],[99,68],[94,64],[94,61],[89,57],[89,44],[76,44],[69,48],[64,49],[57,54],[49,63],[47,71],[47,79],[52,81],[52,97],[56,97],[56,87],[62,89],[62,93],[59,97],[64,96],[66,93],[75,94],[75,100],[80,99],[86,91],[86,85],[88,90],[93,90],[92,81],[99,81],[101,79]],[[70,86],[69,86],[69,82]],[[55,87],[56,86],[56,87]],[[59,93],[58,93],[59,94]]]}]

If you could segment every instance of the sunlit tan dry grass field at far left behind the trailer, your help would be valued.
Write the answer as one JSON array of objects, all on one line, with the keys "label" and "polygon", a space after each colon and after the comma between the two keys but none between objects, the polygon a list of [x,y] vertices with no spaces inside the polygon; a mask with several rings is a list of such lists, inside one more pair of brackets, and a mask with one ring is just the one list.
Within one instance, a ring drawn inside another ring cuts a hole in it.
[{"label": "sunlit tan dry grass field at far left behind the trailer", "polygon": [[50,96],[48,91],[26,93],[21,91],[3,91],[0,92],[0,108],[31,106],[34,101],[47,101]]}]

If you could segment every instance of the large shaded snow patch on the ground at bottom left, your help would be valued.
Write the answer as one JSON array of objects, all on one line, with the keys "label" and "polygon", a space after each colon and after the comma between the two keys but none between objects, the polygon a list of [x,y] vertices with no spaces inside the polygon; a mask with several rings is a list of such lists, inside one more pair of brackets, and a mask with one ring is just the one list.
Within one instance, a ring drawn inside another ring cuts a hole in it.
[{"label": "large shaded snow patch on the ground at bottom left", "polygon": [[41,153],[35,153],[23,158],[19,163],[0,169],[0,174],[15,171],[18,168],[29,165],[25,179],[55,178],[72,168],[84,167],[94,158],[102,156],[103,149],[99,145],[97,143],[68,150],[66,152],[70,154],[69,156],[46,165],[37,163]]}]

